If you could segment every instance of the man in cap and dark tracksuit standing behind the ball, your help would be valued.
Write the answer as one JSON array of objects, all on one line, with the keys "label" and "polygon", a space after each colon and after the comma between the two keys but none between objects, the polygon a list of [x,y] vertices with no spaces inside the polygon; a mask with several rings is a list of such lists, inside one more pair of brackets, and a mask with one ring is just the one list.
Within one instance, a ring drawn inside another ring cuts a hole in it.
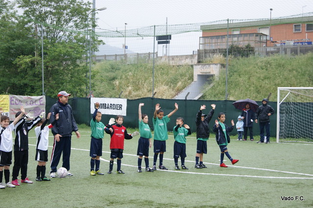
[{"label": "man in cap and dark tracksuit standing behind the ball", "polygon": [[69,172],[70,170],[70,156],[71,156],[71,138],[72,132],[74,131],[77,138],[80,137],[78,132],[78,127],[76,125],[75,119],[72,114],[72,107],[68,104],[69,96],[71,94],[66,91],[61,91],[58,93],[58,101],[56,104],[52,105],[50,109],[50,123],[55,120],[55,115],[59,114],[59,119],[56,124],[51,128],[51,132],[54,136],[53,149],[51,154],[51,171],[50,177],[55,178],[55,173],[57,166],[59,164],[61,154],[63,154],[63,164],[68,170],[68,175],[73,174]]}]

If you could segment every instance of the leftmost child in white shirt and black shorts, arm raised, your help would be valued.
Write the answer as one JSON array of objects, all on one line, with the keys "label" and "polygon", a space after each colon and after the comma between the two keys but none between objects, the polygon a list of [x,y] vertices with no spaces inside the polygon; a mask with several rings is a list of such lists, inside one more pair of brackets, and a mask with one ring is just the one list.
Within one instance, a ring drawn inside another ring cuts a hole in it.
[{"label": "leftmost child in white shirt and black shorts, arm raised", "polygon": [[[0,109],[0,113],[2,108]],[[15,126],[21,121],[22,116],[24,116],[25,110],[21,106],[21,113],[18,115],[15,120],[10,124],[10,118],[8,116],[1,116],[1,125],[0,125],[0,188],[5,187],[15,187],[10,180],[10,165],[12,164],[12,146],[13,146],[13,137],[12,131],[15,129]],[[4,169],[4,180],[5,185],[2,184]]]}]

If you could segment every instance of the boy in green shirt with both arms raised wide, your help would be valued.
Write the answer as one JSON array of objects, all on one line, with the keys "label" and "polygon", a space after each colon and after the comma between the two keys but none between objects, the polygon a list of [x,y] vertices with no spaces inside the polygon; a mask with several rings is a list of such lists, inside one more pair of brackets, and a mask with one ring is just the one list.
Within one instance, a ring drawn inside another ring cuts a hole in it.
[{"label": "boy in green shirt with both arms raised wide", "polygon": [[166,140],[168,140],[168,126],[169,117],[171,117],[178,110],[178,104],[175,103],[175,109],[169,113],[169,115],[164,116],[163,110],[161,110],[160,104],[155,105],[155,111],[153,114],[153,126],[154,126],[154,137],[153,137],[153,167],[152,170],[156,170],[156,162],[158,160],[158,155],[160,153],[160,165],[159,168],[162,170],[167,170],[163,166],[163,154],[166,152]]}]

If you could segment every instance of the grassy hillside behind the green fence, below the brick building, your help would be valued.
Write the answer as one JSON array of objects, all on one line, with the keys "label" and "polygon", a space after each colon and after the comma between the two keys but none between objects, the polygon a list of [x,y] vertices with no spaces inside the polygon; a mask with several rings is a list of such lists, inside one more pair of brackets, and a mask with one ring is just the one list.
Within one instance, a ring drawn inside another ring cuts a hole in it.
[{"label": "grassy hillside behind the green fence, below the brick building", "polygon": [[[207,62],[223,62],[217,57]],[[96,97],[137,99],[152,95],[152,64],[125,65],[100,62],[93,68]],[[225,73],[214,86],[204,86],[202,100],[225,99]],[[154,91],[156,98],[171,99],[193,81],[193,67],[189,65],[155,65]],[[250,98],[260,101],[272,93],[275,101],[278,86],[313,86],[313,54],[289,57],[250,57],[230,59],[228,69],[228,100]]]}]

